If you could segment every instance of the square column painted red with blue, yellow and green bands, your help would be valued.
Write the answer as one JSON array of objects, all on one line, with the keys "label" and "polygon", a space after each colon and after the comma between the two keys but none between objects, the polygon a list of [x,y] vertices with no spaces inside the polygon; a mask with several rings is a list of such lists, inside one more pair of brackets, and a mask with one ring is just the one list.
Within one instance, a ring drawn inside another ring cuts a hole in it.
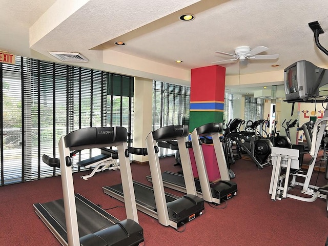
[{"label": "square column painted red with blue, yellow and green bands", "polygon": [[[191,70],[190,87],[190,122],[189,132],[211,122],[223,122],[224,85],[226,68],[217,65]],[[221,175],[213,145],[203,146],[204,159],[209,180],[217,182]],[[190,160],[195,177],[197,167],[192,149],[189,149]]]}]

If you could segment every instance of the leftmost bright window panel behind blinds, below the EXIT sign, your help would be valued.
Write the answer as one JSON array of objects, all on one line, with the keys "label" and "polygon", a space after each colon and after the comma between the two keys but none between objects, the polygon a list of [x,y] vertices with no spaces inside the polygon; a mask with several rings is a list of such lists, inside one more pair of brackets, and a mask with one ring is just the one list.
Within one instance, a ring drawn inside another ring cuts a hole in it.
[{"label": "leftmost bright window panel behind blinds, below the EXIT sign", "polygon": [[[20,58],[16,56],[16,63]],[[1,182],[4,179],[20,180],[22,177],[22,68],[0,63],[2,92],[0,107]],[[6,165],[5,165],[6,164]]]}]

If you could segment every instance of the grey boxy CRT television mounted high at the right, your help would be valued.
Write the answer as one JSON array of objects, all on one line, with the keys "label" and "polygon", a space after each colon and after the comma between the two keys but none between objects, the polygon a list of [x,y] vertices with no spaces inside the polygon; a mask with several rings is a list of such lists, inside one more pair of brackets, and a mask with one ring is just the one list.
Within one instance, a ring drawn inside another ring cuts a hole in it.
[{"label": "grey boxy CRT television mounted high at the right", "polygon": [[306,100],[319,96],[319,88],[328,83],[326,69],[307,60],[299,60],[284,69],[286,101]]}]

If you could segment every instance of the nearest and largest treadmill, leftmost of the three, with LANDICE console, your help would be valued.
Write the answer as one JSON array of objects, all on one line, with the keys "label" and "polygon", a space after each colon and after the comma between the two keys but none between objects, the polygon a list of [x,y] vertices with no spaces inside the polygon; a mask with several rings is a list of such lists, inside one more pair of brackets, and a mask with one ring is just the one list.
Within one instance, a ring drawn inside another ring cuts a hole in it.
[{"label": "nearest and largest treadmill, leftmost of the three, with LANDICE console", "polygon": [[[116,146],[124,187],[127,219],[119,221],[80,194],[74,194],[70,151]],[[51,167],[60,168],[63,199],[33,204],[62,245],[144,245],[144,233],[138,224],[132,185],[130,160],[127,156],[127,129],[90,127],[73,131],[59,140],[59,159],[46,159]]]}]

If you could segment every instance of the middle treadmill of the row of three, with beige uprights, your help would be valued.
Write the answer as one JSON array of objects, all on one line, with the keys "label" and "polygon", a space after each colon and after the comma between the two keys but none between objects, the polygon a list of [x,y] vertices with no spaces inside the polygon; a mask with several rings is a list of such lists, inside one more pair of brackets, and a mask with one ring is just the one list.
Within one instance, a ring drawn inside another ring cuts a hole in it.
[{"label": "middle treadmill of the row of three, with beige uprights", "polygon": [[[164,191],[156,141],[177,140],[181,157],[188,158],[185,145],[187,136],[188,126],[182,125],[162,127],[149,133],[146,138],[147,151],[144,151],[144,154],[148,154],[149,157],[153,187],[133,181],[137,209],[158,219],[163,226],[171,226],[175,229],[203,214],[204,201],[197,196],[192,169],[187,162],[181,163],[186,178],[187,195],[178,197]],[[133,148],[129,148],[129,151],[131,153]],[[135,151],[134,154],[137,152]],[[106,186],[103,190],[111,197],[125,201],[121,184]]]}]

